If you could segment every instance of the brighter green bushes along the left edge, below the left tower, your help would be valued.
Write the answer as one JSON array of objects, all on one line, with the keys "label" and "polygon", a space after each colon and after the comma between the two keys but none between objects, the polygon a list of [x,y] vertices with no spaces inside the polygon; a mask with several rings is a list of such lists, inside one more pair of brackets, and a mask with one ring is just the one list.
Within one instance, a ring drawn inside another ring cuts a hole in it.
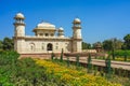
[{"label": "brighter green bushes along the left edge, below the left tower", "polygon": [[16,72],[14,68],[18,56],[20,55],[13,51],[0,51],[0,84],[2,86],[13,86],[10,77]]}]

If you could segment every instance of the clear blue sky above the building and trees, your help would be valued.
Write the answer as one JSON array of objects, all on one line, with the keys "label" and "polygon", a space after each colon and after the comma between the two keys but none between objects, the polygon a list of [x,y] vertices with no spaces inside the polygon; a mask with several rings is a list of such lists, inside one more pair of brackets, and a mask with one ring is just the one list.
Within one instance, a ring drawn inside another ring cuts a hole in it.
[{"label": "clear blue sky above the building and trees", "polygon": [[88,43],[106,39],[122,39],[130,33],[130,0],[0,0],[0,39],[12,38],[16,13],[26,19],[26,34],[41,20],[63,27],[65,35],[72,37],[72,22],[82,22],[82,38]]}]

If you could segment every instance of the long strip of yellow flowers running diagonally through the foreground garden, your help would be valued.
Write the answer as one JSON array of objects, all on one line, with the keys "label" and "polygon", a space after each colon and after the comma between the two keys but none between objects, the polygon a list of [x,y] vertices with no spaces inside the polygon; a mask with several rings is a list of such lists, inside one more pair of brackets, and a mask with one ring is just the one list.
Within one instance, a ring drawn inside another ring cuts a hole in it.
[{"label": "long strip of yellow flowers running diagonally through the foreground garden", "polygon": [[52,77],[57,78],[57,81],[68,86],[121,86],[107,82],[101,76],[93,76],[65,66],[60,66],[51,60],[36,59],[36,63],[43,67],[48,75],[52,75]]}]

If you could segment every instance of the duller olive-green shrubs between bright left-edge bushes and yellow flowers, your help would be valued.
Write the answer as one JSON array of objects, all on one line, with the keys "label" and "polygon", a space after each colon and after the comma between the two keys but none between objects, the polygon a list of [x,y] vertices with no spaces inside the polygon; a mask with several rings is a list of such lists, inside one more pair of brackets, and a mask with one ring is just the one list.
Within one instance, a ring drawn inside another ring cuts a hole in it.
[{"label": "duller olive-green shrubs between bright left-edge bushes and yellow flowers", "polygon": [[36,86],[42,81],[43,69],[38,67],[31,58],[18,60],[16,71],[11,80],[15,85]]}]

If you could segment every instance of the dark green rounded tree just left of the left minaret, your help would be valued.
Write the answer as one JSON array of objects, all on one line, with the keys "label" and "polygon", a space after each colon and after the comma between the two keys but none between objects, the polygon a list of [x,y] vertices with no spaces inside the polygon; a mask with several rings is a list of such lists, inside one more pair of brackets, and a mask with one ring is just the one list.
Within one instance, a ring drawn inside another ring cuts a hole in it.
[{"label": "dark green rounded tree just left of the left minaret", "polygon": [[11,51],[14,48],[13,39],[4,38],[2,44],[4,51]]}]

